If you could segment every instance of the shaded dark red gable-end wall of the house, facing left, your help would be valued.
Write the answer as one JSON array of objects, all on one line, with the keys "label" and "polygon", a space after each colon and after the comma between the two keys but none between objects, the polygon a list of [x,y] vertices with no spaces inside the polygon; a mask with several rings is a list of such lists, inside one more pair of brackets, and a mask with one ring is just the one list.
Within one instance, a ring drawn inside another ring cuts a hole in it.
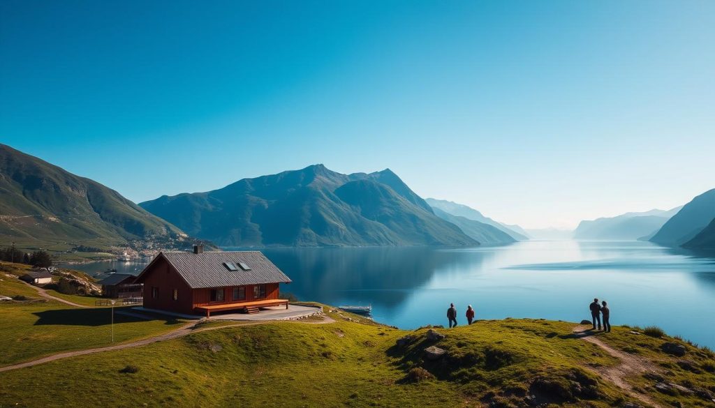
[{"label": "shaded dark red gable-end wall of the house, facing left", "polygon": [[[174,270],[166,259],[159,258],[144,275],[144,307],[177,313],[193,313],[192,289]],[[157,298],[152,297],[152,288],[158,288]],[[173,299],[174,289],[178,299]]]}]

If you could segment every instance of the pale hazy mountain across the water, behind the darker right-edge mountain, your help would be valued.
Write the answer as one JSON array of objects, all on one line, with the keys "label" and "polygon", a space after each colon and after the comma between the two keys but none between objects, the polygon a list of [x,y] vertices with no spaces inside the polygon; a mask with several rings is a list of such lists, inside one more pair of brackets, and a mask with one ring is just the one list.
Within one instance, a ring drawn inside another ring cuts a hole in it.
[{"label": "pale hazy mountain across the water, behind the darker right-edge mountain", "polygon": [[668,211],[652,209],[648,212],[628,212],[617,217],[584,220],[573,232],[576,239],[636,240],[654,234],[682,207]]}]

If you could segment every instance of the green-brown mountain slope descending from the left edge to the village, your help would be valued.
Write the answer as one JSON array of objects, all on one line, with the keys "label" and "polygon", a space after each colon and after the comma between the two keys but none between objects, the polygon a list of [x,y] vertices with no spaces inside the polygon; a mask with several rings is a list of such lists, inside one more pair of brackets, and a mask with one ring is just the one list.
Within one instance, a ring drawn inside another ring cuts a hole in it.
[{"label": "green-brown mountain slope descending from the left edge to the village", "polygon": [[0,144],[0,237],[125,244],[184,237],[112,189]]}]

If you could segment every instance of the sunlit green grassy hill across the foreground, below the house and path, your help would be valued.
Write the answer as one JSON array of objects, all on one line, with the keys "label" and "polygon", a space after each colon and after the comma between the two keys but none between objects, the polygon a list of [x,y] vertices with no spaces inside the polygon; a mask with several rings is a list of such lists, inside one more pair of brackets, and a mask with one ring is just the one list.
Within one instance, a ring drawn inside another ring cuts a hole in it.
[{"label": "sunlit green grassy hill across the foreground, below the house and path", "polygon": [[[0,406],[644,406],[634,392],[663,407],[713,404],[713,353],[641,329],[598,335],[654,365],[653,374],[627,377],[637,391],[626,391],[603,374],[622,362],[574,335],[571,323],[478,321],[436,329],[445,338],[429,339],[426,328],[407,332],[325,310],[335,322],[208,324],[212,330],[179,339],[0,372]],[[662,352],[666,341],[681,344],[686,356]],[[428,359],[430,346],[444,349],[443,357]],[[659,383],[682,389],[659,392]]]}]

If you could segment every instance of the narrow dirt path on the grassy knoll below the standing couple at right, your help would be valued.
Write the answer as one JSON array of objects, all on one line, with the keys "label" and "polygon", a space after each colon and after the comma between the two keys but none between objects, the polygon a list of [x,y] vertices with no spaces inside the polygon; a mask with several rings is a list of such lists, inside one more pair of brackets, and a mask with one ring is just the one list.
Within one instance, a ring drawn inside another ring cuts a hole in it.
[{"label": "narrow dirt path on the grassy knoll below the standing couple at right", "polygon": [[603,349],[606,353],[621,360],[621,362],[615,366],[588,367],[589,369],[601,375],[601,377],[608,379],[608,381],[613,382],[613,384],[616,384],[617,387],[623,389],[623,391],[631,397],[636,398],[645,404],[649,404],[651,407],[661,408],[661,406],[654,402],[648,395],[637,392],[633,389],[633,386],[628,384],[626,381],[627,377],[642,375],[646,372],[659,372],[659,369],[652,362],[648,359],[644,359],[643,357],[634,356],[614,349],[608,344],[602,342],[601,339],[595,335],[589,334],[591,332],[590,326],[576,326],[573,328],[573,332],[575,334],[581,334],[579,338],[582,340],[591,344],[596,344],[596,346],[601,347],[601,349]]}]

